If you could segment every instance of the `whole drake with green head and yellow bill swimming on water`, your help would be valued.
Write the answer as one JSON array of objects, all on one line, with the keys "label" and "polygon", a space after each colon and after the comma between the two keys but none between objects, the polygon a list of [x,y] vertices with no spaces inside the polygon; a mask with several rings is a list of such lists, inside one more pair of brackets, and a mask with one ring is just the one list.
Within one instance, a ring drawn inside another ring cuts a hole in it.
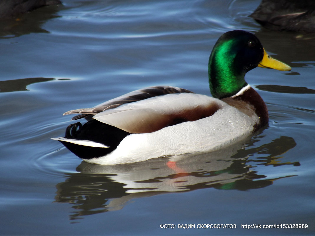
[{"label": "whole drake with green head and yellow bill swimming on water", "polygon": [[244,80],[257,66],[291,69],[268,56],[253,34],[227,32],[209,58],[213,97],[178,87],[147,87],[64,113],[88,122],[69,125],[64,138],[53,139],[83,160],[104,165],[221,149],[268,122],[264,101]]}]

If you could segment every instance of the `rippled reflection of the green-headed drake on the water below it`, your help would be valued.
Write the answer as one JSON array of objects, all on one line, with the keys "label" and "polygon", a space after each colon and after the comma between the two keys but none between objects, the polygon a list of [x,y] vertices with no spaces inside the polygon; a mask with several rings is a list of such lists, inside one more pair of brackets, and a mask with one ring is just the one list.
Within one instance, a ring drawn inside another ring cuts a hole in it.
[{"label": "rippled reflection of the green-headed drake on the water below it", "polygon": [[283,163],[279,156],[295,147],[293,138],[283,136],[250,148],[259,138],[246,142],[246,146],[238,143],[216,152],[170,159],[112,166],[82,162],[77,166],[80,173],[66,173],[66,181],[56,185],[55,201],[72,204],[70,220],[78,220],[82,216],[120,210],[130,200],[141,197],[202,188],[246,191],[291,177],[267,179],[251,170],[254,166],[249,162],[264,166],[300,165],[299,162]]}]

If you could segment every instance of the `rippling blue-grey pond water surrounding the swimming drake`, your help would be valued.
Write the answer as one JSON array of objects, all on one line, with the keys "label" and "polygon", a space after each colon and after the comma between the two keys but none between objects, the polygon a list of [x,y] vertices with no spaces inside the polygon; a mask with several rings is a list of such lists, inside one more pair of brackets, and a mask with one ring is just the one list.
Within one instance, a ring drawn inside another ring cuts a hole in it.
[{"label": "rippling blue-grey pond water surrounding the swimming drake", "polygon": [[[314,35],[263,29],[247,17],[260,0],[63,2],[0,22],[0,235],[315,234]],[[63,112],[142,87],[209,95],[209,54],[233,29],[292,67],[247,74],[270,121],[246,143],[179,160],[176,172],[167,158],[82,163],[50,139],[71,122]]]}]

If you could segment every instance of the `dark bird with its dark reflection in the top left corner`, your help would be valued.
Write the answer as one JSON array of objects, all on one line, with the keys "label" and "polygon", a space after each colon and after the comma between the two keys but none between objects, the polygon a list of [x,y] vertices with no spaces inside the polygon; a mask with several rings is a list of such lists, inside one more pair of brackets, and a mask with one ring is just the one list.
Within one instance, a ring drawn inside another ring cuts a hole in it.
[{"label": "dark bird with its dark reflection in the top left corner", "polygon": [[0,38],[49,33],[41,26],[45,21],[58,17],[55,14],[61,4],[60,0],[1,0]]}]

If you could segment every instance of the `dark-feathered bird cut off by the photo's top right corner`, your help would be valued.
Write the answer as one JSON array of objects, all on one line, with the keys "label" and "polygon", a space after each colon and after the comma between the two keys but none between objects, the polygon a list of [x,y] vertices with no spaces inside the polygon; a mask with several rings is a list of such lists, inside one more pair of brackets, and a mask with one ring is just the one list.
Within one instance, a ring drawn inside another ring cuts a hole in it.
[{"label": "dark-feathered bird cut off by the photo's top right corner", "polygon": [[315,32],[315,1],[262,0],[250,17],[271,30]]}]

